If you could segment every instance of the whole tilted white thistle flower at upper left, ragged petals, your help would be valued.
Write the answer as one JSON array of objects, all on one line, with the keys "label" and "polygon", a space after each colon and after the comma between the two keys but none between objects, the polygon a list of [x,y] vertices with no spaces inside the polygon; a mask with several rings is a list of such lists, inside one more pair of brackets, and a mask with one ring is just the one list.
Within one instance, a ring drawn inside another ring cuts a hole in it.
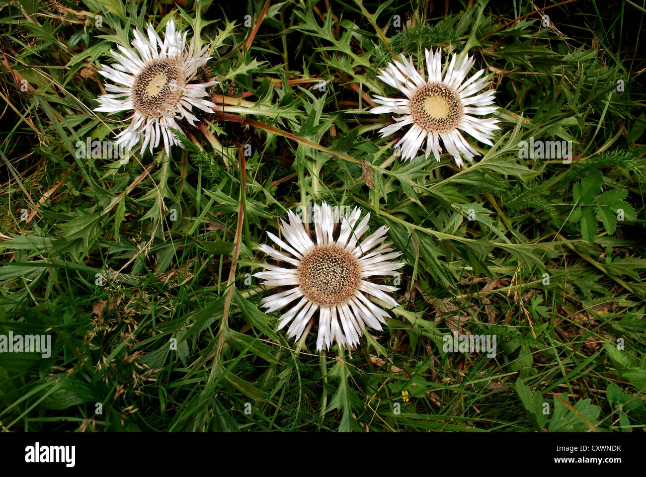
[{"label": "whole tilted white thistle flower at upper left, ragged petals", "polygon": [[110,50],[116,63],[109,67],[101,65],[99,73],[118,85],[105,84],[105,89],[114,94],[103,94],[97,101],[101,103],[94,111],[115,114],[121,111],[134,111],[130,125],[116,137],[116,145],[128,151],[138,142],[141,153],[147,145],[157,147],[160,140],[166,153],[170,154],[171,145],[181,145],[172,132],[172,127],[182,132],[176,120],[185,119],[191,125],[198,120],[191,114],[193,107],[212,112],[215,104],[204,100],[207,87],[217,81],[189,84],[197,70],[210,57],[205,56],[208,47],[195,51],[195,39],[186,48],[187,32],[178,32],[172,21],[166,24],[163,41],[151,24],[146,38],[135,28],[133,48],[117,45],[121,52]]}]

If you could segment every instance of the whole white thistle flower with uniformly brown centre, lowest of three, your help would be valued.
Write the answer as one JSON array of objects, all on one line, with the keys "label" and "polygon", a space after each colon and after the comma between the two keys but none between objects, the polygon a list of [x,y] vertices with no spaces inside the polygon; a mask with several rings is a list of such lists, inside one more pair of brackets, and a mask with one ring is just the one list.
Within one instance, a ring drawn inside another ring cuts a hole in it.
[{"label": "whole white thistle flower with uniformly brown centre, lowest of three", "polygon": [[372,283],[368,277],[395,276],[404,263],[390,262],[401,255],[387,243],[388,228],[382,226],[369,237],[360,240],[368,230],[370,213],[357,224],[361,209],[355,207],[348,217],[340,217],[338,237],[333,238],[339,214],[323,202],[313,207],[315,240],[307,235],[302,221],[289,211],[289,224],[280,220],[284,240],[267,232],[283,251],[266,244],[260,250],[276,260],[294,268],[262,264],[266,271],[255,273],[267,286],[291,287],[265,297],[261,305],[266,313],[275,312],[298,300],[297,304],[280,317],[280,330],[290,321],[287,335],[297,341],[303,334],[312,315],[318,310],[317,351],[336,341],[341,346],[353,348],[366,324],[381,330],[388,312],[368,300],[366,295],[380,299],[389,306],[399,303],[388,292],[394,286]]}]

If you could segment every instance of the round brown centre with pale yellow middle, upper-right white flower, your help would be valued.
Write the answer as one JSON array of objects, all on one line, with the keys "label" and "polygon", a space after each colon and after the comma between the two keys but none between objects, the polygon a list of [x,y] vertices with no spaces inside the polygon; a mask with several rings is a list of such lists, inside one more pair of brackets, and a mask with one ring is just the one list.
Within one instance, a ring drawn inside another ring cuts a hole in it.
[{"label": "round brown centre with pale yellow middle, upper-right white flower", "polygon": [[413,121],[426,131],[446,133],[455,129],[462,118],[462,101],[443,83],[428,83],[410,100]]}]

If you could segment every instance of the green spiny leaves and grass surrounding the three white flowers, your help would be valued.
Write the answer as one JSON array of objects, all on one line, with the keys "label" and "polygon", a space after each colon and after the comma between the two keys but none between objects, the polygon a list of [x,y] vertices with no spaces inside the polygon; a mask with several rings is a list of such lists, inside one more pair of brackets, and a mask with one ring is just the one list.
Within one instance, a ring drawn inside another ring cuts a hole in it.
[{"label": "green spiny leaves and grass surrounding the three white flowers", "polygon": [[[531,3],[469,4],[272,3],[247,48],[262,1],[4,3],[0,335],[52,350],[0,353],[2,430],[643,427],[640,10],[550,5],[562,21],[543,28]],[[197,79],[226,104],[181,122],[170,157],[80,157],[129,118],[93,111],[109,50],[168,21],[208,47]],[[492,77],[501,129],[466,135],[481,155],[463,169],[402,162],[406,128],[381,138],[391,119],[368,114],[403,97],[379,68],[423,70],[424,48]],[[572,161],[523,157],[530,138],[570,141]],[[317,352],[318,323],[294,343],[253,277],[266,232],[322,200],[370,212],[406,264],[381,282],[400,306],[357,350]],[[447,352],[453,332],[495,335],[495,357]]]}]

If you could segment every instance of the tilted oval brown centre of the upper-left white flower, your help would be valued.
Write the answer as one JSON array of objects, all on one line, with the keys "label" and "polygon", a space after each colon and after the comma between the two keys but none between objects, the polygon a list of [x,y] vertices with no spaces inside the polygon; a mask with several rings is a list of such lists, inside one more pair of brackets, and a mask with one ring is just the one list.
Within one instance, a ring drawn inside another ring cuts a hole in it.
[{"label": "tilted oval brown centre of the upper-left white flower", "polygon": [[174,108],[186,86],[184,70],[174,59],[158,59],[146,65],[132,87],[134,109],[147,118],[160,118],[169,105]]}]

